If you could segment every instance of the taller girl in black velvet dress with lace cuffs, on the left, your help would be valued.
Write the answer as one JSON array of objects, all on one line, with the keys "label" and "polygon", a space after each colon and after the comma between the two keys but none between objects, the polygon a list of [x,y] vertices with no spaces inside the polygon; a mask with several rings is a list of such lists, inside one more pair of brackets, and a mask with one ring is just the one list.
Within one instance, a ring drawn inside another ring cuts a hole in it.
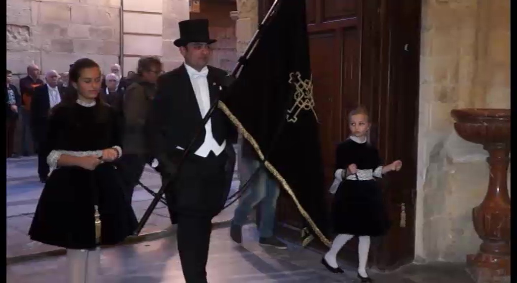
[{"label": "taller girl in black velvet dress with lace cuffs, on the left", "polygon": [[29,236],[67,248],[70,283],[99,283],[99,246],[123,241],[137,222],[112,163],[121,137],[117,113],[99,98],[99,65],[80,59],[69,77],[70,93],[49,116],[41,150],[51,173]]}]

